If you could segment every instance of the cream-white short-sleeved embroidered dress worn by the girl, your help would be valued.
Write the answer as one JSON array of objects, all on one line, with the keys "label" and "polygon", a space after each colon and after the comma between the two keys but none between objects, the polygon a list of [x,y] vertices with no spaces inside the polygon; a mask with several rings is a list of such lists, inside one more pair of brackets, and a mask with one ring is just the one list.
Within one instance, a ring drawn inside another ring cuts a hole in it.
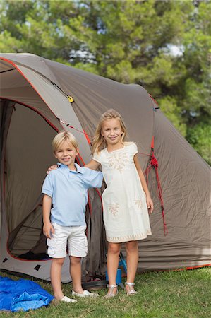
[{"label": "cream-white short-sleeved embroidered dress worn by the girl", "polygon": [[108,242],[143,240],[151,235],[145,192],[133,157],[135,143],[109,153],[104,148],[93,159],[102,165],[107,188],[102,194],[103,217]]}]

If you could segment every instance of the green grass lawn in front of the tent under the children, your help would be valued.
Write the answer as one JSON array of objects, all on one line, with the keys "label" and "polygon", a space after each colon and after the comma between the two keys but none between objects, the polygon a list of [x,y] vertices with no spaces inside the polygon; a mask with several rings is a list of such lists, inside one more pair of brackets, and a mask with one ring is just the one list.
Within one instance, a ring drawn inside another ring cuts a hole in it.
[{"label": "green grass lawn in front of the tent under the children", "polygon": [[[12,279],[19,279],[2,273]],[[50,283],[38,282],[49,293]],[[63,284],[65,295],[71,295],[71,284]],[[96,299],[78,299],[76,304],[53,301],[48,307],[28,312],[3,312],[0,318],[19,317],[111,317],[111,318],[205,318],[211,317],[211,268],[188,271],[143,273],[135,278],[138,295],[127,296],[119,288],[115,298],[104,298],[105,289]]]}]

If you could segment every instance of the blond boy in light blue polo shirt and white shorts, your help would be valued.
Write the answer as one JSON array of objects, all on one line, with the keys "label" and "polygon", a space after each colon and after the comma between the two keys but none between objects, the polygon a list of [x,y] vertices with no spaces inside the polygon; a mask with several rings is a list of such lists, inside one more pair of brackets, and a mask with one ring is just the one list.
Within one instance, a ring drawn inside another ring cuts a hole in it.
[{"label": "blond boy in light blue polo shirt and white shorts", "polygon": [[83,290],[81,286],[81,257],[87,254],[85,236],[85,206],[88,188],[101,187],[102,172],[80,167],[75,163],[78,155],[76,138],[68,131],[60,131],[52,141],[58,168],[44,179],[43,232],[47,237],[49,257],[52,257],[51,281],[56,300],[76,302],[64,296],[61,290],[61,266],[70,257],[70,273],[73,281],[72,295],[79,297],[98,296]]}]

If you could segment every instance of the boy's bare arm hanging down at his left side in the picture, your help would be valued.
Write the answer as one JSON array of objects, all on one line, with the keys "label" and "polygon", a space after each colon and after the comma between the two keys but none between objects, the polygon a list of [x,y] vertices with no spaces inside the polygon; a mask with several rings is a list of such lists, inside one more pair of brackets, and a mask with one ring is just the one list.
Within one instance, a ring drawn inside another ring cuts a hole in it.
[{"label": "boy's bare arm hanging down at his left side in the picture", "polygon": [[54,233],[54,228],[50,222],[50,213],[52,208],[52,198],[44,194],[42,201],[42,215],[43,215],[43,233],[47,238],[52,238],[51,233]]}]

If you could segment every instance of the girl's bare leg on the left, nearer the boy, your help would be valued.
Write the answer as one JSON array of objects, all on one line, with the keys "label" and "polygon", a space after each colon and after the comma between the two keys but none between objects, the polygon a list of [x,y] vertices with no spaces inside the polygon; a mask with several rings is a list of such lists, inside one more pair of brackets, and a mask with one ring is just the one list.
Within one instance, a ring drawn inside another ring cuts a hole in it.
[{"label": "girl's bare leg on the left, nearer the boy", "polygon": [[[109,276],[109,285],[116,285],[116,273],[119,266],[120,251],[121,243],[109,242],[107,255],[107,273]],[[116,293],[116,288],[114,288],[114,293]]]}]

